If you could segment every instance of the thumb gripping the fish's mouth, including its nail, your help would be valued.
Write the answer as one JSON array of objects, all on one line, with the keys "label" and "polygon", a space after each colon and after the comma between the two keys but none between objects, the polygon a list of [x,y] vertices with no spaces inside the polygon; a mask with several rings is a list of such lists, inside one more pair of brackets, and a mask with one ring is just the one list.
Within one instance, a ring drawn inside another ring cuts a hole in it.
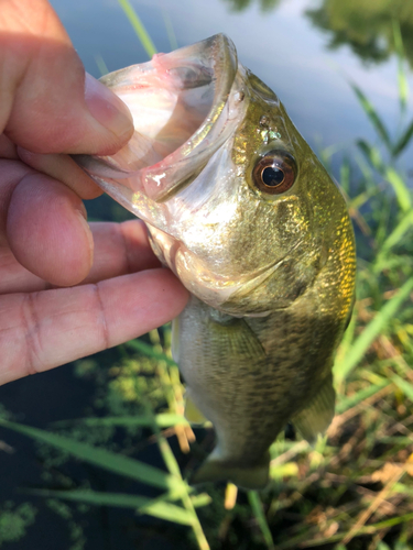
[{"label": "thumb gripping the fish's mouth, including its nail", "polygon": [[86,75],[46,0],[0,0],[0,134],[34,153],[111,154],[133,132],[124,103]]}]

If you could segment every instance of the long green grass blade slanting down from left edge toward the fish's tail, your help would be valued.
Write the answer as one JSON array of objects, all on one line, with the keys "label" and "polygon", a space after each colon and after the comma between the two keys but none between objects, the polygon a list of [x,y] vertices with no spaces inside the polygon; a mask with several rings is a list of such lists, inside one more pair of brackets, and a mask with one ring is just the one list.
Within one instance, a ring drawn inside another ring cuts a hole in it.
[{"label": "long green grass blade slanting down from left edge toward the fish's tail", "polygon": [[57,449],[66,451],[79,460],[94,464],[95,466],[109,470],[116,474],[130,477],[141,483],[146,483],[148,485],[152,485],[154,487],[176,491],[181,490],[183,486],[182,481],[166,474],[157,468],[150,466],[138,460],[123,457],[122,454],[107,451],[106,449],[98,449],[94,446],[76,441],[72,438],[51,433],[39,428],[10,422],[3,419],[0,419],[0,426],[24,433],[36,441],[56,447]]}]

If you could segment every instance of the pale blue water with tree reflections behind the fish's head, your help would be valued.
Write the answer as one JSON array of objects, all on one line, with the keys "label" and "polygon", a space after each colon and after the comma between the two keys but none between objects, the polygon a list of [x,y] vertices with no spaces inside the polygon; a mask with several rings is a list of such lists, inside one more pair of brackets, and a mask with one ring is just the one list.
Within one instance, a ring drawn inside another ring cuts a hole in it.
[{"label": "pale blue water with tree reflections behind the fish's head", "polygon": [[[94,76],[100,76],[101,61],[108,70],[148,61],[117,0],[52,3]],[[374,138],[349,80],[365,91],[389,128],[395,129],[396,59],[390,55],[393,38],[388,3],[377,1],[372,10],[370,0],[132,0],[159,52],[218,32],[228,34],[241,63],[279,95],[315,150]],[[402,32],[409,40],[410,21],[402,15]],[[333,41],[343,45],[330,50]]]}]

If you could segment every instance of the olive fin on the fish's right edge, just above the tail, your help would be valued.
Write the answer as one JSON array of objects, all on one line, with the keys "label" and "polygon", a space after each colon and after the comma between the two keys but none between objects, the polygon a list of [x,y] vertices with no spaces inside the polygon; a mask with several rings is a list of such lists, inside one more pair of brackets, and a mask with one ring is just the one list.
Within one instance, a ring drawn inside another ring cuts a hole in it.
[{"label": "olive fin on the fish's right edge, just above the tail", "polygon": [[333,376],[329,375],[309,404],[293,418],[295,428],[308,443],[313,443],[318,433],[324,433],[334,417],[336,392]]}]

